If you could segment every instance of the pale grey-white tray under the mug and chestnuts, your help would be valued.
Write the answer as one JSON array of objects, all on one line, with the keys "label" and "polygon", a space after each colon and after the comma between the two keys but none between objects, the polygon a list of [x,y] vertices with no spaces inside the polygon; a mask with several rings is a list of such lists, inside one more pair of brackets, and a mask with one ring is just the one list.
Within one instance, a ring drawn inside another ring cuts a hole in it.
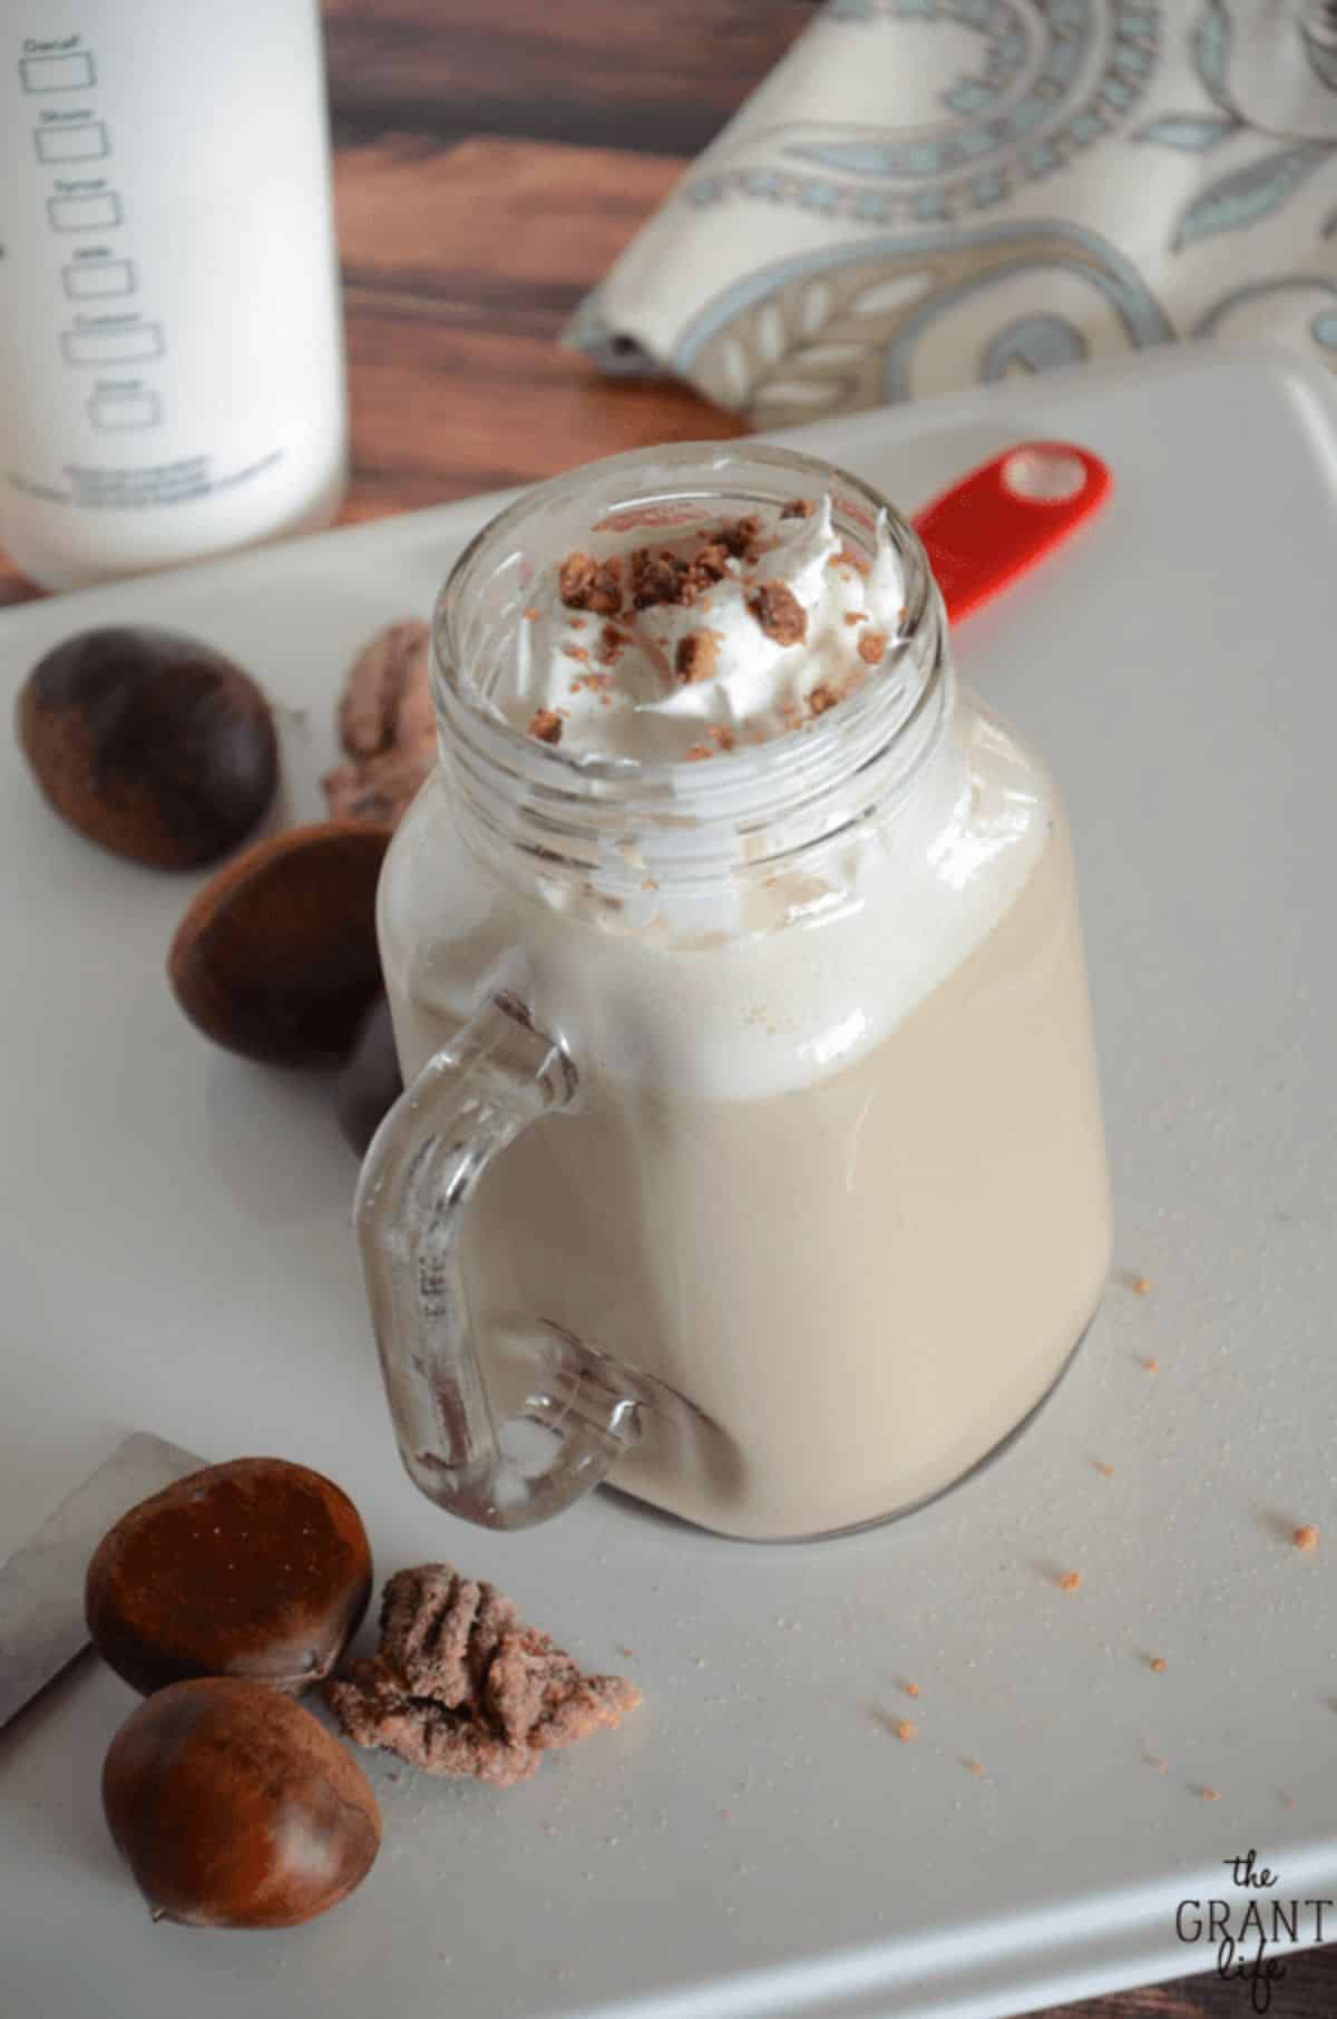
[{"label": "pale grey-white tray under the mug and chestnuts", "polygon": [[[1119,1260],[1151,1292],[1117,1282],[1026,1436],[868,1534],[725,1543],[598,1494],[497,1536],[422,1500],[329,1088],[184,1024],[192,882],[81,842],[4,739],[0,1555],[127,1427],[277,1452],[355,1496],[382,1573],[454,1559],[646,1694],[511,1793],[370,1763],[368,1884],[238,1936],[149,1926],[97,1793],[133,1698],[83,1664],[0,1734],[4,2019],[963,2019],[1210,1969],[1175,1908],[1248,1847],[1278,1896],[1337,1892],[1331,388],[1179,351],[794,440],[917,505],[1022,434],[1087,442],[1117,491],[957,654],[1070,804]],[[285,818],[313,814],[351,652],[493,505],[14,610],[6,690],[89,624],[198,632],[309,711]]]}]

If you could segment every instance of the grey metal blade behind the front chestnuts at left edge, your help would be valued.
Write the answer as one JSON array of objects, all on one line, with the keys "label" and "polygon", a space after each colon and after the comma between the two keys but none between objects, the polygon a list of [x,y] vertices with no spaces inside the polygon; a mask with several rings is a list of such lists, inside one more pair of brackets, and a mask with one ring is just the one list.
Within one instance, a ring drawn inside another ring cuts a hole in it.
[{"label": "grey metal blade behind the front chestnuts at left edge", "polygon": [[137,1429],[0,1563],[0,1726],[87,1648],[83,1575],[107,1528],[202,1464]]}]

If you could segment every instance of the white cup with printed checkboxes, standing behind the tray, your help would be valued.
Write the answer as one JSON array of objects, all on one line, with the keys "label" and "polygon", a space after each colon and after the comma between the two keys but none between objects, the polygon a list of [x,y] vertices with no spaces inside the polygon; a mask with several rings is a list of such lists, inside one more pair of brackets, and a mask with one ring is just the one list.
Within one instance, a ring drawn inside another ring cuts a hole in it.
[{"label": "white cup with printed checkboxes, standing behind the tray", "polygon": [[345,481],[319,0],[6,0],[0,547],[77,588]]}]

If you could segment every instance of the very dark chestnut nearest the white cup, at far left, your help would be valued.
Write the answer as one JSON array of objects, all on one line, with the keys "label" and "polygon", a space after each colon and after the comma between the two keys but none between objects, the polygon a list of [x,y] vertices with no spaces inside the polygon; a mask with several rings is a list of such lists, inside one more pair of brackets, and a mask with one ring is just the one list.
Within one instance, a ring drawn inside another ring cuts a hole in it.
[{"label": "very dark chestnut nearest the white cup, at far left", "polygon": [[147,624],[46,652],[18,693],[18,741],[57,814],[166,870],[244,842],[279,781],[273,713],[250,674]]}]

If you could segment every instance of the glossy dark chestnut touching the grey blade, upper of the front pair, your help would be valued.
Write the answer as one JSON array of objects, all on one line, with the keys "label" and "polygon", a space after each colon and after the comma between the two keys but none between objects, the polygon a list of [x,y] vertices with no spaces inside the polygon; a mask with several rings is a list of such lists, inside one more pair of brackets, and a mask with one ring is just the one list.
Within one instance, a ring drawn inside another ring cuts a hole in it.
[{"label": "glossy dark chestnut touching the grey blade, upper of the front pair", "polygon": [[204,1466],[121,1514],[85,1579],[89,1639],[145,1696],[190,1676],[305,1690],[372,1597],[372,1549],[333,1480],[283,1458]]}]

